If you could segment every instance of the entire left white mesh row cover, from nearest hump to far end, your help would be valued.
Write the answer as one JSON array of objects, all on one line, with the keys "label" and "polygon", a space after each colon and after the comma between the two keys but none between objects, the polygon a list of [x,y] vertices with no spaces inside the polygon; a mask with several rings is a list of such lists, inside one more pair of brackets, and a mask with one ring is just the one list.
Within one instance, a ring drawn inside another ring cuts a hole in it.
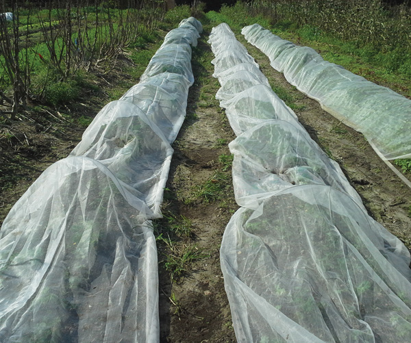
[{"label": "entire left white mesh row cover, from nearest hump to far end", "polygon": [[105,105],[5,218],[1,342],[159,341],[151,219],[186,115],[197,27],[190,18],[172,30],[190,42],[164,42],[140,83]]}]

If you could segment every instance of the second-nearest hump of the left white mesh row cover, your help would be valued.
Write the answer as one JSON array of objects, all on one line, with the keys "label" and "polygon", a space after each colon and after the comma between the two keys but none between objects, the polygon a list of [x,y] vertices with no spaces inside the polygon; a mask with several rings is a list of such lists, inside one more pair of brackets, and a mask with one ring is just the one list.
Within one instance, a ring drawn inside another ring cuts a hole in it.
[{"label": "second-nearest hump of the left white mesh row cover", "polygon": [[71,155],[86,156],[107,166],[151,209],[149,218],[161,216],[162,190],[173,149],[139,107],[121,100],[105,105]]}]

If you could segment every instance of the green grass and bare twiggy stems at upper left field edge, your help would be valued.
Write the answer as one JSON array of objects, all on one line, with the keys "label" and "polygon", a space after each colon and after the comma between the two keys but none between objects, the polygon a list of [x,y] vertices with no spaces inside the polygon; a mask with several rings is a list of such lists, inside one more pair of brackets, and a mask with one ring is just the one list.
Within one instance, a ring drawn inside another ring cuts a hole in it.
[{"label": "green grass and bare twiggy stems at upper left field edge", "polygon": [[0,21],[3,121],[33,104],[55,107],[77,99],[94,75],[104,77],[119,58],[156,40],[160,23],[169,25],[162,1],[128,1],[127,8],[89,4],[49,0],[40,9],[29,1],[3,1],[2,12],[13,13],[12,21]]}]

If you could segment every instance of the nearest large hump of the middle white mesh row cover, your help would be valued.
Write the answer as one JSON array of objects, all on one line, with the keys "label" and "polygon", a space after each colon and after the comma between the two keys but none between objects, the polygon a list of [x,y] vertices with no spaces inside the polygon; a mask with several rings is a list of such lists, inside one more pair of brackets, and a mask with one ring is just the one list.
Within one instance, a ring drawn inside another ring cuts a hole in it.
[{"label": "nearest large hump of the middle white mesh row cover", "polygon": [[408,340],[410,270],[381,229],[329,186],[239,209],[221,245],[238,342]]}]

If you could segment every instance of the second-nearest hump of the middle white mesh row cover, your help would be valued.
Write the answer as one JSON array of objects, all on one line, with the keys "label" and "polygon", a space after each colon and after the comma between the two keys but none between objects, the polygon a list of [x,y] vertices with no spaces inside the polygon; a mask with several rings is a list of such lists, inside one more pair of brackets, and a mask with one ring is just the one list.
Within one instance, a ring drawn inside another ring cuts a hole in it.
[{"label": "second-nearest hump of the middle white mesh row cover", "polygon": [[340,166],[325,155],[306,129],[292,124],[265,121],[229,144],[234,153],[233,183],[238,205],[255,208],[258,199],[269,193],[314,183],[347,192],[364,209]]}]

